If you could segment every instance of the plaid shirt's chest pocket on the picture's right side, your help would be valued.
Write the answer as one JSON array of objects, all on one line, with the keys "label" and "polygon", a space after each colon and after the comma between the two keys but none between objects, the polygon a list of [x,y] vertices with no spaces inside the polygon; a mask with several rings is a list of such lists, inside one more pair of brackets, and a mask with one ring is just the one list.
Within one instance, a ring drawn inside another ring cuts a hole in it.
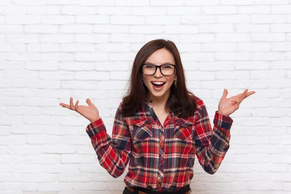
[{"label": "plaid shirt's chest pocket on the picture's right side", "polygon": [[194,123],[184,119],[175,121],[174,137],[180,140],[192,140]]}]

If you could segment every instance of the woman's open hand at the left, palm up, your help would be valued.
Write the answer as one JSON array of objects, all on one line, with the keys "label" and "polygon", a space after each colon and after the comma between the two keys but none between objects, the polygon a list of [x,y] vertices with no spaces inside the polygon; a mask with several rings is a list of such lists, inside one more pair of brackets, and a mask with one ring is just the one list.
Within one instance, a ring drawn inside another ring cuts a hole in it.
[{"label": "woman's open hand at the left, palm up", "polygon": [[72,111],[76,111],[77,113],[80,113],[83,117],[85,117],[92,123],[93,121],[96,121],[100,118],[99,112],[98,112],[98,109],[95,107],[95,105],[91,102],[89,98],[86,99],[86,102],[89,106],[83,106],[83,105],[79,106],[78,105],[79,100],[77,100],[76,104],[74,105],[73,98],[70,97],[70,105],[64,104],[64,103],[60,103],[60,105]]}]

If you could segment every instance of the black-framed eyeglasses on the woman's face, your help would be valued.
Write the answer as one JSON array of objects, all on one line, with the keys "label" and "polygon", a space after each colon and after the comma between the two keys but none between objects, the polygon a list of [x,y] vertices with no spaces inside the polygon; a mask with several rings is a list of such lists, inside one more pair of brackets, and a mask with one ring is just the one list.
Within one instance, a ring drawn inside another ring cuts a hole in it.
[{"label": "black-framed eyeglasses on the woman's face", "polygon": [[141,66],[142,73],[147,76],[154,75],[157,69],[160,68],[160,72],[164,76],[171,76],[175,73],[176,65],[152,65],[144,64]]}]

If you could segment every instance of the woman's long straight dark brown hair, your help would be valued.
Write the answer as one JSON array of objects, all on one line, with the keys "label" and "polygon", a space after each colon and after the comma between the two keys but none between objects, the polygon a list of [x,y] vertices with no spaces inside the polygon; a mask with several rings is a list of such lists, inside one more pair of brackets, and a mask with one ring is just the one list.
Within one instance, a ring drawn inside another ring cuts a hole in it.
[{"label": "woman's long straight dark brown hair", "polygon": [[186,88],[184,69],[179,51],[172,41],[157,39],[146,43],[135,56],[129,80],[129,89],[125,97],[123,97],[121,105],[121,114],[123,116],[132,116],[138,111],[141,103],[144,102],[148,89],[142,83],[143,75],[140,67],[153,52],[162,48],[169,50],[174,55],[178,79],[177,87],[175,84],[171,85],[170,96],[166,102],[165,109],[176,113],[178,117],[187,117],[194,113],[197,105],[193,98],[194,94]]}]

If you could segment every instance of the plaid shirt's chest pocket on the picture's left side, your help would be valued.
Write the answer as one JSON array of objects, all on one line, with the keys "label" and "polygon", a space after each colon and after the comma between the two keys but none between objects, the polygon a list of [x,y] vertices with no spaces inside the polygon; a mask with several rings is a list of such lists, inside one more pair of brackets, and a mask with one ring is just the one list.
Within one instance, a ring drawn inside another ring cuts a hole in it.
[{"label": "plaid shirt's chest pocket on the picture's left side", "polygon": [[144,140],[153,136],[151,120],[133,121],[134,139]]}]

